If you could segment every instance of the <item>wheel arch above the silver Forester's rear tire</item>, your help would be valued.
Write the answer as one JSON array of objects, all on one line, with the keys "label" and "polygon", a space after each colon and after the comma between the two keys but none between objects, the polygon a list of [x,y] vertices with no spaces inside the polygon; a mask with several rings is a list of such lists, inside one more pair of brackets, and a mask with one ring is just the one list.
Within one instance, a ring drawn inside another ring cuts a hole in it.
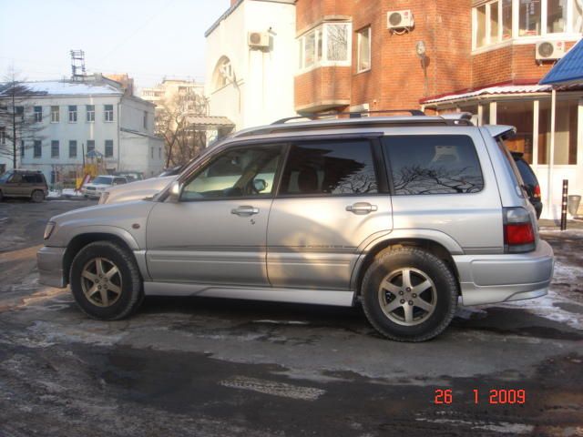
[{"label": "wheel arch above the silver Forester's rear tire", "polygon": [[[389,236],[391,237],[391,236]],[[455,243],[455,241],[453,241]],[[404,247],[414,247],[419,249],[424,249],[430,253],[433,253],[437,258],[445,261],[445,265],[455,275],[455,279],[459,282],[459,273],[455,267],[455,261],[452,255],[457,254],[456,252],[463,253],[462,249],[455,243],[452,247],[451,244],[445,246],[443,241],[436,241],[431,238],[415,238],[415,237],[405,237],[405,236],[393,236],[392,238],[383,239],[381,241],[376,241],[366,249],[366,251],[358,259],[356,266],[353,269],[353,275],[351,279],[351,285],[353,290],[355,290],[355,296],[360,296],[362,292],[362,283],[364,274],[369,266],[373,263],[376,256],[383,251],[394,246],[404,246]],[[452,253],[454,249],[454,253]]]}]

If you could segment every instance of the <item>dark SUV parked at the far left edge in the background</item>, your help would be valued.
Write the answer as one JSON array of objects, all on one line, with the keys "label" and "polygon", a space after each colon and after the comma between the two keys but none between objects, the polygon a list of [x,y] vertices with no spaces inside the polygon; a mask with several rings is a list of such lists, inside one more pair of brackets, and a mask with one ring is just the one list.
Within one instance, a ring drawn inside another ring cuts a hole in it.
[{"label": "dark SUV parked at the far left edge in the background", "polygon": [[0,176],[0,200],[2,198],[30,198],[42,202],[48,194],[45,175],[36,170],[9,170]]}]

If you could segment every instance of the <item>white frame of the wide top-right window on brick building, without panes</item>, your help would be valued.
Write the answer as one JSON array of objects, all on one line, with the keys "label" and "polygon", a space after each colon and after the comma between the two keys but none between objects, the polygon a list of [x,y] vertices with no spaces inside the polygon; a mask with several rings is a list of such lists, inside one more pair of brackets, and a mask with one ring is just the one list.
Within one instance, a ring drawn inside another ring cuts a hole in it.
[{"label": "white frame of the wide top-right window on brick building, without panes", "polygon": [[[520,33],[520,0],[512,0],[512,36],[510,39],[503,39],[503,9],[502,0],[488,0],[476,3],[472,6],[472,52],[481,53],[507,45],[534,44],[540,40],[546,41],[578,41],[581,37],[573,29],[573,17],[575,15],[575,2],[577,0],[567,0],[567,22],[565,31],[560,33],[547,32],[548,0],[540,0],[540,35],[519,36]],[[490,40],[490,5],[498,4],[498,35],[497,41]],[[477,46],[477,8],[486,5],[486,44]]]}]

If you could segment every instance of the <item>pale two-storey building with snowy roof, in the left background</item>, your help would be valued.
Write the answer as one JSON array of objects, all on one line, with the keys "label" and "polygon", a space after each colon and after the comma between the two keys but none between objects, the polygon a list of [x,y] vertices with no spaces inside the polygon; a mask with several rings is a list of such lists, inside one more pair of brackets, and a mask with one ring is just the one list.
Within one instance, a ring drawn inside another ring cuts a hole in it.
[{"label": "pale two-storey building with snowy roof, in the left background", "polygon": [[[24,117],[41,128],[35,132],[37,139],[17,141],[18,167],[41,170],[54,183],[74,178],[87,153],[95,150],[107,172],[139,171],[150,177],[163,168],[163,141],[154,136],[154,105],[129,96],[117,82],[96,76],[84,82],[23,85],[30,92],[19,103]],[[0,106],[9,105],[2,100],[0,94]]]}]

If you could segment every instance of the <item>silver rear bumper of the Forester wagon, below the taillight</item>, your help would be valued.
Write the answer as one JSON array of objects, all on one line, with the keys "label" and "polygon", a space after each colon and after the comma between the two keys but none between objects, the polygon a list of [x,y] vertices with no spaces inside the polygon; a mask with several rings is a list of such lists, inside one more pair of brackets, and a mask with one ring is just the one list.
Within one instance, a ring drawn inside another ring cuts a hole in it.
[{"label": "silver rear bumper of the Forester wagon, below the taillight", "polygon": [[547,294],[555,259],[547,241],[533,252],[504,255],[457,255],[462,302],[482,305],[534,299]]}]

